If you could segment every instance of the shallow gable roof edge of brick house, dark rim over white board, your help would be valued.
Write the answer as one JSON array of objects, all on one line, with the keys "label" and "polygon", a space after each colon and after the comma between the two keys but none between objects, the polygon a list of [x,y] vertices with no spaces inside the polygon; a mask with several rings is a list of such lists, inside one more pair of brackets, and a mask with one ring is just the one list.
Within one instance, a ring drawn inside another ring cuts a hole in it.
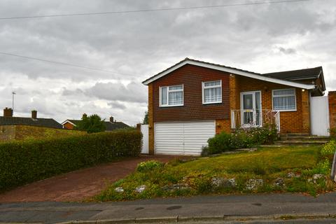
[{"label": "shallow gable roof edge of brick house, dark rim over white board", "polygon": [[255,78],[258,80],[265,80],[271,83],[280,83],[283,85],[289,85],[289,86],[293,86],[293,87],[300,87],[302,89],[307,89],[307,90],[311,90],[315,88],[315,85],[307,85],[304,83],[299,83],[297,81],[294,80],[286,80],[286,79],[281,79],[281,78],[276,78],[276,77],[272,77],[272,76],[264,76],[261,73],[255,73],[253,71],[246,71],[243,69],[237,69],[237,68],[233,68],[230,66],[224,66],[221,64],[214,64],[214,63],[209,63],[209,62],[202,62],[199,60],[195,60],[195,59],[189,59],[188,57],[186,59],[183,59],[181,62],[174,64],[173,66],[170,66],[168,69],[165,69],[164,71],[161,71],[160,73],[156,74],[155,76],[152,76],[151,78],[148,78],[146,80],[144,80],[144,85],[148,85],[149,83],[152,83],[153,81],[161,78],[162,76],[167,75],[168,73],[179,69],[181,66],[184,66],[186,64],[193,64],[196,66],[203,66],[209,69],[215,69],[215,70],[219,70],[219,71],[225,71],[228,73],[234,73],[240,76],[246,76],[246,77],[250,77],[250,78]]}]

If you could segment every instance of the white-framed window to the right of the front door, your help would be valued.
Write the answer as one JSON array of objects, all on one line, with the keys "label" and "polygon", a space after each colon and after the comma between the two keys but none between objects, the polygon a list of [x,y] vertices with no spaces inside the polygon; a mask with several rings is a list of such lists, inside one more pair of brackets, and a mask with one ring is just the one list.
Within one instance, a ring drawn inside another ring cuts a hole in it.
[{"label": "white-framed window to the right of the front door", "polygon": [[295,89],[273,90],[274,111],[296,111]]}]

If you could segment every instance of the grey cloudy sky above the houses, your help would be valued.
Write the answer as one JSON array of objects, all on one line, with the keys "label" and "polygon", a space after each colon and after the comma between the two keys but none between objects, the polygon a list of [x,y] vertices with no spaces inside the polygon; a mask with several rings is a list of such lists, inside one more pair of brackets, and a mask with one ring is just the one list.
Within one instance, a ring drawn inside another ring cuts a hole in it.
[{"label": "grey cloudy sky above the houses", "polygon": [[[0,18],[257,1],[269,0],[1,0]],[[15,91],[15,116],[134,125],[147,108],[141,82],[186,57],[260,73],[323,66],[336,90],[336,1],[0,20],[0,52],[105,70],[0,54],[1,109]]]}]

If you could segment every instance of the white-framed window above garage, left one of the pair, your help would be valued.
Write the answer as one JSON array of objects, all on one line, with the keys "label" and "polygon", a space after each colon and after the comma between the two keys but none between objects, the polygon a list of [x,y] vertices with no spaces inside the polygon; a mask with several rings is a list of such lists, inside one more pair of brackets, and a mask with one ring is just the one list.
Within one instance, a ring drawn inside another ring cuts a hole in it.
[{"label": "white-framed window above garage, left one of the pair", "polygon": [[183,85],[160,87],[160,106],[183,106]]}]

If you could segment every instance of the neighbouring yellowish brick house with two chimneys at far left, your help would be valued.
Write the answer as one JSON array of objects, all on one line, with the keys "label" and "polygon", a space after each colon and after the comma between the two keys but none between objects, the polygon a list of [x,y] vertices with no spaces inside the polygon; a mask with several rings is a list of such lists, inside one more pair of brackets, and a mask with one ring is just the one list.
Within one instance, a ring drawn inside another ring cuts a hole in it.
[{"label": "neighbouring yellowish brick house with two chimneys at far left", "polygon": [[52,118],[38,118],[37,111],[31,111],[30,118],[22,118],[13,117],[13,109],[6,108],[0,116],[0,141],[46,137],[48,133],[57,136],[62,131],[61,124]]}]

